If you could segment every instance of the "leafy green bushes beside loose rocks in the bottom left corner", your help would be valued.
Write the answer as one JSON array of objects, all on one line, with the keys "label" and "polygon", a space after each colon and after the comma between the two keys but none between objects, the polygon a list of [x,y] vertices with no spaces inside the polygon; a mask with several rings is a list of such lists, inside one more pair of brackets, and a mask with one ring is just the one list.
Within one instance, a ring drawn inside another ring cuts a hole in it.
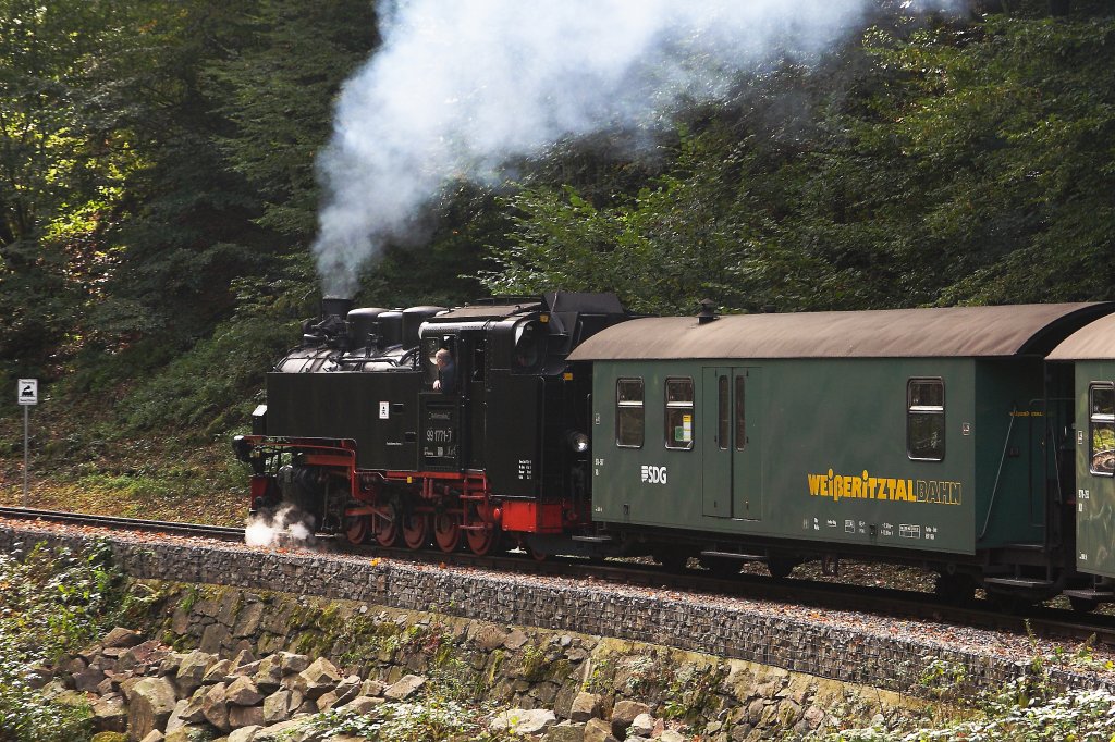
[{"label": "leafy green bushes beside loose rocks in the bottom left corner", "polygon": [[91,733],[87,706],[51,702],[26,676],[89,644],[126,603],[110,556],[105,544],[84,554],[38,545],[23,562],[0,555],[0,738],[69,742]]}]

